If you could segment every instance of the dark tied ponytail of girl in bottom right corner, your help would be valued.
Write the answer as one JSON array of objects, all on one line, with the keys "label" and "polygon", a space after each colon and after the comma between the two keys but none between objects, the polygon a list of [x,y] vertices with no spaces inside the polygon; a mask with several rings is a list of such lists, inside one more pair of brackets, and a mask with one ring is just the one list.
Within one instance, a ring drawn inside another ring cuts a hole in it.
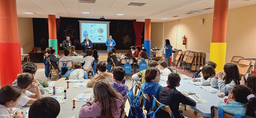
[{"label": "dark tied ponytail of girl in bottom right corner", "polygon": [[[253,95],[253,94],[251,94],[251,95]],[[256,114],[255,114],[255,112],[256,112],[256,97],[255,96],[248,99],[248,103],[245,104],[245,107],[247,107],[245,115],[256,118]]]}]

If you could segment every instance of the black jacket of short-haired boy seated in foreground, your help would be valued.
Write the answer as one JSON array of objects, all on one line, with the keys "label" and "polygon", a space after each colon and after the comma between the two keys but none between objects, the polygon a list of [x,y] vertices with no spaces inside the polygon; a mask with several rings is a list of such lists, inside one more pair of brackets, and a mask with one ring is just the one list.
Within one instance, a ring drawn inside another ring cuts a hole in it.
[{"label": "black jacket of short-haired boy seated in foreground", "polygon": [[[160,89],[159,102],[170,106],[174,114],[174,118],[184,118],[184,116],[178,111],[180,103],[190,106],[196,105],[194,100],[181,94],[181,92],[179,92],[175,87],[172,86],[162,87]],[[161,109],[159,110],[158,115],[160,116],[160,118],[171,118],[168,112],[165,112]]]}]

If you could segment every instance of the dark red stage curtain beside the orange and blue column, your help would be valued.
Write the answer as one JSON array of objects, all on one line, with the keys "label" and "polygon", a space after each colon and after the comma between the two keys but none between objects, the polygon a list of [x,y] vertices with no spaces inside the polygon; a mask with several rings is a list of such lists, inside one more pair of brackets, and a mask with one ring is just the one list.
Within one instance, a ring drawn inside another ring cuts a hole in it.
[{"label": "dark red stage curtain beside the orange and blue column", "polygon": [[141,33],[143,31],[144,22],[136,22],[136,20],[133,20],[133,23],[134,23],[134,32],[135,32],[135,35],[136,35],[135,46],[142,47]]}]

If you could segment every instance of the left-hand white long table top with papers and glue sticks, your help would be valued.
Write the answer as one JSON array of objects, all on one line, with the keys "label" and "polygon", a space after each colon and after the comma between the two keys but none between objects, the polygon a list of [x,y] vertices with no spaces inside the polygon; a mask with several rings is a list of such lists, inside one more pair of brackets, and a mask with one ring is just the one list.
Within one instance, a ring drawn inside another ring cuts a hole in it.
[{"label": "left-hand white long table top with papers and glue sticks", "polygon": [[[83,82],[86,83],[90,81],[90,79],[85,79]],[[87,93],[87,94],[93,94],[93,88],[89,87],[82,87],[82,88],[73,88],[75,85],[75,82],[69,83],[69,89],[67,89],[67,81],[56,81],[54,86],[55,87],[64,87],[64,89],[67,90],[67,98],[65,99],[65,103],[61,103],[61,111],[57,118],[63,118],[69,115],[76,114],[76,118],[79,118],[79,110],[81,109],[82,105],[86,104],[85,101],[76,101],[76,108],[73,108],[73,101],[71,101],[76,95],[79,93]],[[60,96],[64,95],[64,92],[56,93],[56,95],[53,95],[52,93],[49,94],[49,88],[52,88],[52,86],[48,86],[44,89],[44,97],[53,97],[53,96]]]}]

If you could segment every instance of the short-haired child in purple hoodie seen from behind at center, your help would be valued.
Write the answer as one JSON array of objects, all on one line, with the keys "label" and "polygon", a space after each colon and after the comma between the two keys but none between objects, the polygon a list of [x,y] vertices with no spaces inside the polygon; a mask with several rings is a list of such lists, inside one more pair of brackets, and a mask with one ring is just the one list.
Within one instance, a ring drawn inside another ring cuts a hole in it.
[{"label": "short-haired child in purple hoodie seen from behind at center", "polygon": [[113,69],[113,82],[109,83],[116,92],[119,92],[125,99],[128,92],[128,86],[125,85],[125,69],[122,67],[116,67]]}]

